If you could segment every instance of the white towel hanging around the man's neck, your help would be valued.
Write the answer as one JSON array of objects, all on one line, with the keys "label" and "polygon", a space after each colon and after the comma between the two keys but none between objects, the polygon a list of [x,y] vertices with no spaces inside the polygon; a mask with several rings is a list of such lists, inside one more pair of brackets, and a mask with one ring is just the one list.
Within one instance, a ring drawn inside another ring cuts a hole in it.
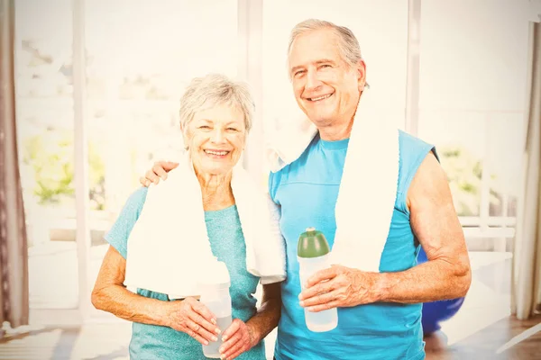
[{"label": "white towel hanging around the man's neck", "polygon": [[[378,114],[362,94],[345,157],[335,206],[332,263],[379,272],[399,182],[399,130]],[[306,117],[291,121],[272,140],[267,159],[277,172],[302,155],[317,133]],[[328,234],[327,234],[328,235]]]}]

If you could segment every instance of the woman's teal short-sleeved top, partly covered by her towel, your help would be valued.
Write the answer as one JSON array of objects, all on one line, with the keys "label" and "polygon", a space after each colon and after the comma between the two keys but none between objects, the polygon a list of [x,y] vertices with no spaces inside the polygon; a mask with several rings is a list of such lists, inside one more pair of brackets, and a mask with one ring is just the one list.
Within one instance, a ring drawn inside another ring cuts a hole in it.
[{"label": "woman's teal short-sleeved top, partly covered by her towel", "polygon": [[[105,235],[105,240],[124,258],[127,256],[126,249],[130,232],[139,218],[147,191],[146,187],[139,188],[128,198],[115,224]],[[257,300],[253,294],[260,279],[246,271],[246,247],[236,206],[233,205],[220,211],[206,211],[205,222],[212,252],[218,260],[225,262],[231,276],[229,293],[232,300],[233,318],[246,322],[256,312]],[[179,224],[181,223],[182,219],[179,219]],[[149,238],[149,241],[152,239]],[[187,275],[171,275],[171,277],[174,276]],[[162,302],[170,301],[164,293],[153,293],[144,289],[137,289],[137,293]],[[188,334],[167,327],[138,322],[133,322],[129,351],[132,359],[206,359],[201,344]],[[263,341],[237,358],[265,359]]]}]

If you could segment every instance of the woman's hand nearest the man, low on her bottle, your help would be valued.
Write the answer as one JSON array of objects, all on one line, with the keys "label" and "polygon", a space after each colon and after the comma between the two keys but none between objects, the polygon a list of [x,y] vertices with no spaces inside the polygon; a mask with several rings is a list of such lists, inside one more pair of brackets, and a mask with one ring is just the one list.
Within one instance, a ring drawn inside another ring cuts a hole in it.
[{"label": "woman's hand nearest the man, low on her bottle", "polygon": [[257,344],[253,329],[240,319],[233,320],[231,326],[225,329],[222,340],[224,344],[220,347],[220,354],[222,359],[227,360],[234,359]]}]

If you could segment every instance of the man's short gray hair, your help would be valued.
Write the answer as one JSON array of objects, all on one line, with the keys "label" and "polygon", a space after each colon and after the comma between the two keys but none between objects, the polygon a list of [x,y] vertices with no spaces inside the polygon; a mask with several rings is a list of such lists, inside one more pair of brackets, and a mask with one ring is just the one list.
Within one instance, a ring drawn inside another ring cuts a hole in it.
[{"label": "man's short gray hair", "polygon": [[299,35],[310,31],[324,29],[331,29],[335,31],[338,38],[338,50],[340,52],[340,56],[349,67],[356,66],[359,61],[362,60],[361,46],[353,34],[353,31],[349,30],[345,26],[338,26],[335,23],[318,19],[308,19],[295,25],[289,36],[288,59],[289,51],[291,50],[291,46],[293,46],[293,41],[295,41]]}]

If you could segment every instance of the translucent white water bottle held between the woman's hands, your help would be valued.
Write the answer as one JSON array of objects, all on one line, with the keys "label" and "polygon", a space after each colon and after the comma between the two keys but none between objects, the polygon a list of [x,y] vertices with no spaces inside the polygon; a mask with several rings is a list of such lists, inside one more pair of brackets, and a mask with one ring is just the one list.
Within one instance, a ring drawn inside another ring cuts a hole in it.
[{"label": "translucent white water bottle held between the woman's hands", "polygon": [[[232,322],[229,272],[225,263],[216,259],[213,265],[207,268],[206,274],[199,283],[201,291],[199,301],[215,314],[216,326],[224,331]],[[222,337],[218,335],[217,338],[217,341],[209,341],[208,345],[203,345],[203,354],[206,357],[220,358],[219,348],[222,346]]]}]

